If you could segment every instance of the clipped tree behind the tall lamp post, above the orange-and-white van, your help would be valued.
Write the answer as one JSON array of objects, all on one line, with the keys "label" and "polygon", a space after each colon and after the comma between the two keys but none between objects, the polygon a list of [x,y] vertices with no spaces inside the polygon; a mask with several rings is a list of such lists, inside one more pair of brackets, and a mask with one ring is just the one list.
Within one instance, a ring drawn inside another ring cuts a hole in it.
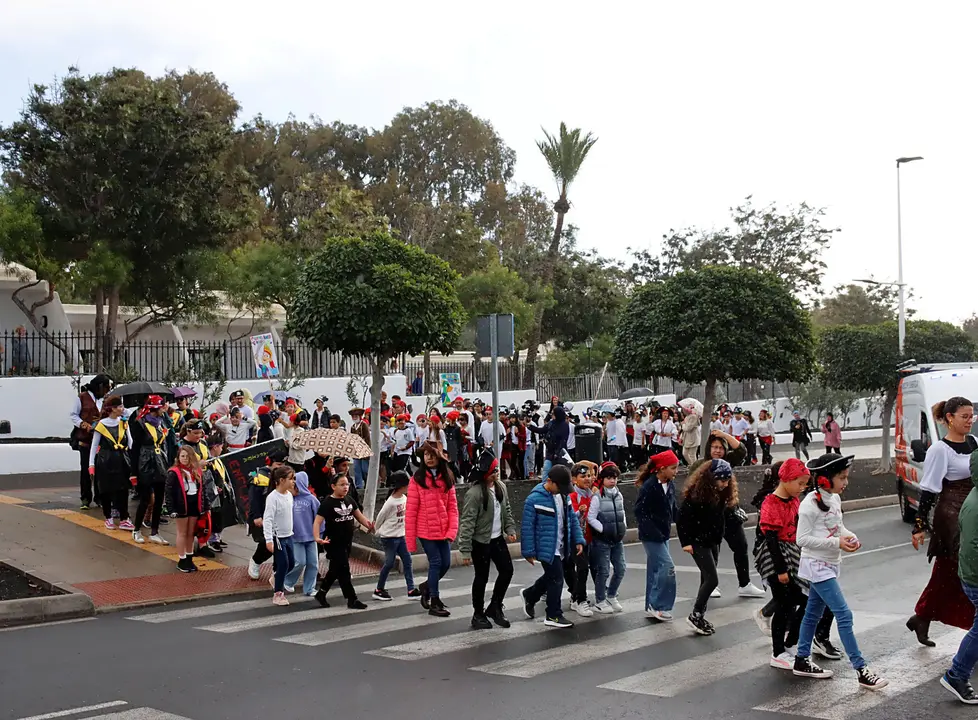
[{"label": "clipped tree behind the tall lamp post, above the orange-and-white van", "polygon": [[[950,323],[913,320],[907,323],[905,357],[918,363],[968,362],[978,348],[963,330]],[[883,442],[878,472],[890,467],[890,421],[896,403],[900,362],[897,323],[827,328],[819,336],[818,363],[825,381],[855,392],[883,395]]]}]

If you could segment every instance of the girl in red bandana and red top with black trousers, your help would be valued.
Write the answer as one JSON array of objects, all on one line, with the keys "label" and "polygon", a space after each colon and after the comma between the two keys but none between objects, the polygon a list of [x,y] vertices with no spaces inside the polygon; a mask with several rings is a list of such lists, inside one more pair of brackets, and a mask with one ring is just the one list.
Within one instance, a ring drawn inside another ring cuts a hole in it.
[{"label": "girl in red bandana and red top with black trousers", "polygon": [[778,471],[778,485],[761,503],[758,532],[762,542],[754,548],[757,572],[774,596],[771,618],[771,667],[792,670],[795,658],[786,650],[798,641],[806,598],[798,579],[801,549],[795,542],[799,497],[808,487],[808,468],[794,458]]}]

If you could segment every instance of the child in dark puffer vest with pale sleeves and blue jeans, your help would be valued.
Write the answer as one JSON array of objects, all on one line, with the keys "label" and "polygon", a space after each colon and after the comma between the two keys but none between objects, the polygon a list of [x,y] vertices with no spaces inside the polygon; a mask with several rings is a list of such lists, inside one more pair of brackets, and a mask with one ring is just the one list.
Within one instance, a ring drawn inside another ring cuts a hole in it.
[{"label": "child in dark puffer vest with pale sleeves and blue jeans", "polygon": [[[625,500],[618,490],[618,466],[606,462],[598,472],[598,492],[588,508],[594,562],[594,609],[608,615],[623,610],[618,588],[625,579]],[[608,565],[614,569],[608,581]]]}]

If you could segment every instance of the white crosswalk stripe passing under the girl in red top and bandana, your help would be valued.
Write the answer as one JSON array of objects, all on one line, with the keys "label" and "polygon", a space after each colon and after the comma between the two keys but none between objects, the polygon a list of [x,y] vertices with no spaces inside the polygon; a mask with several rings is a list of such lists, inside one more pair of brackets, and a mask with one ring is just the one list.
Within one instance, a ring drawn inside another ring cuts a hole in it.
[{"label": "white crosswalk stripe passing under the girl in red top and bandana", "polygon": [[[873,628],[900,619],[902,616],[899,615],[860,613],[855,623],[856,633],[869,632]],[[598,687],[640,695],[675,697],[696,690],[703,685],[732,678],[741,673],[766,666],[770,654],[771,640],[759,638],[746,645],[739,644],[705,655],[697,655]]]}]

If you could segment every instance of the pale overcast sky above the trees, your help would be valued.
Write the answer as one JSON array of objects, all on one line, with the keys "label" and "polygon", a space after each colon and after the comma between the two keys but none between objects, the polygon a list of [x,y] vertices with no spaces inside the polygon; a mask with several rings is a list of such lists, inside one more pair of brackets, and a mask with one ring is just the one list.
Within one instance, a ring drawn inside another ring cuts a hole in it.
[{"label": "pale overcast sky above the trees", "polygon": [[541,128],[583,128],[599,140],[568,221],[626,261],[671,228],[726,226],[753,195],[841,228],[826,288],[895,281],[895,159],[921,155],[901,171],[910,305],[978,312],[978,3],[0,0],[0,18],[3,124],[71,65],[209,70],[242,120],[380,128],[456,99],[516,151],[515,182],[551,196]]}]

